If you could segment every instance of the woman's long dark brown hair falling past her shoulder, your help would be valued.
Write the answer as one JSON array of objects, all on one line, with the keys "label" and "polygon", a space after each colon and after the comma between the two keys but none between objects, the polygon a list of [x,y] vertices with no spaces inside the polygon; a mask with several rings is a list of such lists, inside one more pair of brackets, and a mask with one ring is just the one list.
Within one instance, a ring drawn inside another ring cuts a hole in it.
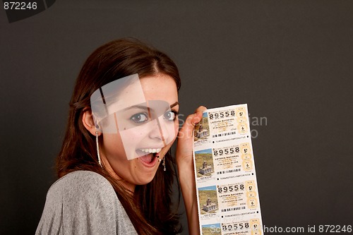
[{"label": "woman's long dark brown hair falling past her shoulder", "polygon": [[100,167],[95,136],[83,126],[83,109],[90,107],[92,92],[135,73],[140,78],[164,73],[174,78],[178,90],[180,88],[179,72],[172,59],[138,40],[115,40],[96,49],[85,61],[76,80],[64,143],[56,159],[57,174],[62,177],[77,170],[95,171],[112,184],[138,234],[177,234],[181,229],[179,217],[170,207],[175,174],[170,152],[165,155],[167,174],[160,164],[154,179],[147,185],[136,186],[132,196]]}]

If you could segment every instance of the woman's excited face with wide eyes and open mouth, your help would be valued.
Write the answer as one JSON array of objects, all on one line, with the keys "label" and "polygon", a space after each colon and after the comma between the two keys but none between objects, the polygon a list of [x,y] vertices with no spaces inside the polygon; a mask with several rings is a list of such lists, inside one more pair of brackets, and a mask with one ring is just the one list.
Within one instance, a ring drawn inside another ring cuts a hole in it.
[{"label": "woman's excited face with wide eyes and open mouth", "polygon": [[179,123],[173,78],[158,73],[141,78],[140,85],[147,105],[133,105],[114,114],[119,131],[103,133],[100,142],[104,167],[131,191],[152,181],[158,159],[163,159],[174,142]]}]

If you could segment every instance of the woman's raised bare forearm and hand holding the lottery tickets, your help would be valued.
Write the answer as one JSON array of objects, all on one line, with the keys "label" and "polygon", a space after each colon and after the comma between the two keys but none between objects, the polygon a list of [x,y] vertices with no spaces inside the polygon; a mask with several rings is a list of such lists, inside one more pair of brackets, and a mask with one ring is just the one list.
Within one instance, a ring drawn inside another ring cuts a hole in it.
[{"label": "woman's raised bare forearm and hand holding the lottery tickets", "polygon": [[186,118],[178,134],[176,161],[181,192],[183,193],[188,217],[189,234],[200,234],[195,174],[193,172],[193,128],[201,121],[205,110],[206,108],[203,106],[198,107],[195,114],[191,114]]}]

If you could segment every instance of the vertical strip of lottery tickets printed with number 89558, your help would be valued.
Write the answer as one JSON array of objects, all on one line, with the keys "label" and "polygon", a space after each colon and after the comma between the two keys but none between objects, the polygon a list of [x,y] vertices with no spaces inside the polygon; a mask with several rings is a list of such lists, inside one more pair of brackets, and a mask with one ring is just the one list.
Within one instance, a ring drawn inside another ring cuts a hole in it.
[{"label": "vertical strip of lottery tickets printed with number 89558", "polygon": [[193,134],[201,234],[263,234],[247,105],[206,110]]}]

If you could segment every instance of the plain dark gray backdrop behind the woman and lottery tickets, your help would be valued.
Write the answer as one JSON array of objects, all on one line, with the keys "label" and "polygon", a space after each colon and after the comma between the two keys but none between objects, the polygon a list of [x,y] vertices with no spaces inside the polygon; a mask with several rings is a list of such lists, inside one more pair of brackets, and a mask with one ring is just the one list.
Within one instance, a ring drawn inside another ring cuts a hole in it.
[{"label": "plain dark gray backdrop behind the woman and lottery tickets", "polygon": [[252,127],[265,226],[352,224],[353,1],[56,1],[0,25],[0,234],[34,233],[80,66],[127,36],[176,61],[181,114],[267,119]]}]

